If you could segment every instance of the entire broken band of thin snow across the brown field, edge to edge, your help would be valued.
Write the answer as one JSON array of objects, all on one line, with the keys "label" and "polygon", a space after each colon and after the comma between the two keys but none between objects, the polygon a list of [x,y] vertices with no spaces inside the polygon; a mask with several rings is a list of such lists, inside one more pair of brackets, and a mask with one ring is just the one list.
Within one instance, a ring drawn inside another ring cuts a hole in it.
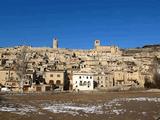
[{"label": "entire broken band of thin snow across the brown field, edge to edge", "polygon": [[[73,116],[80,115],[85,116],[87,114],[110,114],[110,115],[123,115],[126,112],[132,113],[133,111],[127,111],[123,108],[123,105],[131,101],[136,102],[153,102],[160,103],[160,98],[153,97],[135,97],[135,98],[116,98],[105,103],[95,104],[76,104],[76,103],[63,103],[55,101],[47,101],[40,104],[38,107],[24,104],[11,104],[11,103],[0,103],[0,112],[11,112],[20,115],[26,115],[28,113],[41,113],[48,111],[52,113],[63,113],[70,114]],[[43,111],[43,112],[39,112]],[[142,115],[146,115],[146,111],[142,112]]]}]

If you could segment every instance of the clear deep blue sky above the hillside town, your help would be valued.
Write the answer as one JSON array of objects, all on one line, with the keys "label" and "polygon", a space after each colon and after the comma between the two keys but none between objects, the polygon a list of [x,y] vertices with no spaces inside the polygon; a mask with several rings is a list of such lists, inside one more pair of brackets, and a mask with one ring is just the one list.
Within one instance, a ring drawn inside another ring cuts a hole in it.
[{"label": "clear deep blue sky above the hillside town", "polygon": [[160,44],[159,0],[0,0],[0,47]]}]

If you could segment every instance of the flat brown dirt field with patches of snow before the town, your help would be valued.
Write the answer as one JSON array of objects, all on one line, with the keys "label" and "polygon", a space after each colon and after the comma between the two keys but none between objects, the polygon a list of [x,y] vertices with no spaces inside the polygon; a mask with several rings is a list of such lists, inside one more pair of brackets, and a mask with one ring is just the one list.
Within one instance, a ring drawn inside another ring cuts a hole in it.
[{"label": "flat brown dirt field with patches of snow before the town", "polygon": [[0,95],[0,120],[160,120],[160,93]]}]

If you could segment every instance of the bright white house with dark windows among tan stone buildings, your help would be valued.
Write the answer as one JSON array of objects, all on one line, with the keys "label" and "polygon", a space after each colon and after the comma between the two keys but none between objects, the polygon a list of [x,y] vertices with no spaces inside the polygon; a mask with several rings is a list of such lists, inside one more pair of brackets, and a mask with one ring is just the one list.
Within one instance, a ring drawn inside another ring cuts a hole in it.
[{"label": "bright white house with dark windows among tan stone buildings", "polygon": [[84,91],[94,89],[93,73],[73,73],[73,90]]}]

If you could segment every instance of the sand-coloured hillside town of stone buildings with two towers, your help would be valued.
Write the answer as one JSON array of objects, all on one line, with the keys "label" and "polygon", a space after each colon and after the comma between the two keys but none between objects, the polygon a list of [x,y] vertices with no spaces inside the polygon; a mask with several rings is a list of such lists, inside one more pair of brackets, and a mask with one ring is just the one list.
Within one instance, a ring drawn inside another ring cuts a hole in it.
[{"label": "sand-coloured hillside town of stone buildings with two towers", "polygon": [[15,92],[102,90],[144,87],[153,81],[160,47],[75,50],[17,46],[0,48],[0,86]]}]

